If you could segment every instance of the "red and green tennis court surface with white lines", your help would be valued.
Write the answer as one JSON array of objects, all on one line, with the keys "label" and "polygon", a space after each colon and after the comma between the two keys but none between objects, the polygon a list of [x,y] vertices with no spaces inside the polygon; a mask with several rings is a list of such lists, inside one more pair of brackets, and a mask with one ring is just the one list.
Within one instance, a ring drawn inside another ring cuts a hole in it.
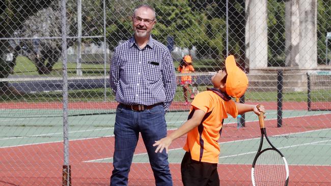
[{"label": "red and green tennis court surface with white lines", "polygon": [[[331,112],[284,110],[283,127],[277,128],[277,110],[273,109],[273,103],[263,104],[267,109],[265,123],[268,136],[289,163],[289,185],[327,185],[331,171],[331,123],[322,121],[329,118]],[[293,103],[289,105],[293,108]],[[45,108],[45,105],[43,107]],[[50,107],[45,110],[35,105],[34,109],[1,110],[3,118],[0,157],[5,166],[0,177],[5,185],[36,185],[45,182],[48,185],[56,185],[61,182],[64,148],[62,110],[56,109],[57,105],[54,104],[53,109]],[[73,185],[109,184],[113,169],[114,109],[93,111],[104,114],[93,115],[89,109],[71,109],[69,112],[69,151]],[[167,113],[169,133],[186,120],[187,113]],[[44,117],[47,117],[47,120]],[[219,140],[221,153],[218,166],[223,185],[252,184],[251,165],[258,149],[260,129],[255,114],[247,113],[245,119],[245,127],[239,129],[235,118],[225,120]],[[181,147],[184,141],[185,136],[174,141],[170,147],[169,162],[174,185],[181,185],[180,162],[184,154]],[[309,174],[312,176],[305,176]],[[154,185],[153,173],[142,140],[135,151],[129,185]]]}]

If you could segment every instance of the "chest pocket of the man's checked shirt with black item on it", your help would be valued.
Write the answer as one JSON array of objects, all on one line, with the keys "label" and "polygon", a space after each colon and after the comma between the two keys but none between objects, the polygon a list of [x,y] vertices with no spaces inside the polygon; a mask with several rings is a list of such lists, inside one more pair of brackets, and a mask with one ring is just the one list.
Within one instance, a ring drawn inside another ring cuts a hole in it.
[{"label": "chest pocket of the man's checked shirt with black item on it", "polygon": [[161,78],[161,64],[157,61],[149,61],[145,64],[143,72],[148,81],[156,82]]}]

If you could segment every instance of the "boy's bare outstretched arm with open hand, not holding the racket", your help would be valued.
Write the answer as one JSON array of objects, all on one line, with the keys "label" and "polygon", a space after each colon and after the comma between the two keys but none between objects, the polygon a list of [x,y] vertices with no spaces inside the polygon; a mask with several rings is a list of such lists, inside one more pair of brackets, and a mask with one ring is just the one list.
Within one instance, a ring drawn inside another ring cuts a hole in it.
[{"label": "boy's bare outstretched arm with open hand, not holding the racket", "polygon": [[168,153],[168,147],[174,139],[177,139],[184,134],[188,133],[190,130],[199,126],[203,117],[205,116],[205,112],[203,110],[197,109],[193,116],[188,119],[182,126],[180,126],[173,133],[169,134],[167,137],[162,138],[158,141],[155,141],[153,146],[157,146],[155,152],[162,152],[164,148],[166,148],[166,152]]}]

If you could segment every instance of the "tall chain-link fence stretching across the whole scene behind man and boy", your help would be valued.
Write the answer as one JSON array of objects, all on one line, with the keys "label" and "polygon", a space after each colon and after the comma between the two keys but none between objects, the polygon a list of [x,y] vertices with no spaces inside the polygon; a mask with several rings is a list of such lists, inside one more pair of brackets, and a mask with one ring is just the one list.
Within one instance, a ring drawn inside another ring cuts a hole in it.
[{"label": "tall chain-link fence stretching across the whole scene behind man and boy", "polygon": [[[0,185],[109,184],[118,104],[109,59],[132,37],[132,11],[143,3],[155,8],[153,38],[169,48],[175,68],[192,56],[192,90],[212,86],[210,72],[235,55],[250,81],[239,101],[266,107],[290,185],[331,184],[329,0],[13,0],[2,1],[0,17]],[[180,76],[166,113],[170,132],[188,116]],[[253,113],[224,121],[222,185],[252,184],[259,138]],[[169,152],[174,185],[182,185],[185,140]],[[140,140],[129,185],[154,184]]]}]

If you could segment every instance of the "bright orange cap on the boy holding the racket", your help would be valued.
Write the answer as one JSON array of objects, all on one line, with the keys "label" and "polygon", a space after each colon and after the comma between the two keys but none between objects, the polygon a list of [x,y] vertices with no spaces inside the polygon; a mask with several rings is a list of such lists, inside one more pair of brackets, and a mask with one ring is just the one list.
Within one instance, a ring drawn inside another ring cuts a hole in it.
[{"label": "bright orange cap on the boy holding the racket", "polygon": [[225,59],[225,68],[228,73],[226,82],[227,94],[234,98],[240,98],[245,93],[248,86],[247,76],[237,67],[233,55],[229,55]]}]

